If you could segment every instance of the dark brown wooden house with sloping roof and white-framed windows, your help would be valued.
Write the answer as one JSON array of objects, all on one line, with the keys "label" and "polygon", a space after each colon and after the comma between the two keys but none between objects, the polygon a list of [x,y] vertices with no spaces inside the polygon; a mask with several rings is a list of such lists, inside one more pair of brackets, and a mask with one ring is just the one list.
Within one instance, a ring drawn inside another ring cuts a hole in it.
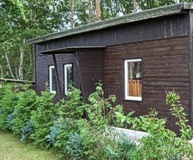
[{"label": "dark brown wooden house with sloping roof and white-framed windows", "polygon": [[58,97],[81,88],[84,98],[102,81],[125,112],[155,108],[175,129],[165,104],[175,90],[193,125],[193,4],[175,4],[29,40],[36,50],[36,90]]}]

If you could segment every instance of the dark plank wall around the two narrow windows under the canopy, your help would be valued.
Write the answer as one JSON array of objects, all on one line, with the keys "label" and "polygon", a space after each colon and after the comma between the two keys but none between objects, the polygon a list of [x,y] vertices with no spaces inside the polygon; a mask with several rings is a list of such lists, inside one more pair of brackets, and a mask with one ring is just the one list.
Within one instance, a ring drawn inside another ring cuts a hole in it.
[{"label": "dark plank wall around the two narrow windows under the canopy", "polygon": [[[73,64],[74,85],[80,88],[80,78],[78,73],[76,54],[57,54],[56,55],[58,73],[62,93],[64,94],[64,64]],[[40,94],[45,90],[45,83],[49,81],[49,66],[54,65],[52,55],[36,56],[36,90]],[[57,94],[56,99],[59,99]]]}]

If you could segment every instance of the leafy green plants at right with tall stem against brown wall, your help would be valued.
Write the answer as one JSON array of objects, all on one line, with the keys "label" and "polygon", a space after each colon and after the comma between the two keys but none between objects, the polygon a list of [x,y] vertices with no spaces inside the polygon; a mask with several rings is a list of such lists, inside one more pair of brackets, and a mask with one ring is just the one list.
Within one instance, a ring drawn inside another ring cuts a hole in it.
[{"label": "leafy green plants at right with tall stem against brown wall", "polygon": [[[127,123],[133,129],[144,130],[149,133],[149,136],[140,141],[141,146],[133,154],[137,159],[164,159],[168,157],[170,157],[169,159],[181,159],[184,155],[192,158],[193,146],[188,142],[192,135],[192,128],[186,124],[188,120],[179,99],[180,97],[175,92],[169,92],[166,97],[167,104],[171,105],[172,115],[178,119],[176,124],[181,128],[181,137],[177,137],[176,133],[167,129],[165,127],[166,120],[157,118],[158,113],[154,110],[148,115],[140,117],[116,113],[119,122]],[[187,136],[187,133],[190,136]]]}]

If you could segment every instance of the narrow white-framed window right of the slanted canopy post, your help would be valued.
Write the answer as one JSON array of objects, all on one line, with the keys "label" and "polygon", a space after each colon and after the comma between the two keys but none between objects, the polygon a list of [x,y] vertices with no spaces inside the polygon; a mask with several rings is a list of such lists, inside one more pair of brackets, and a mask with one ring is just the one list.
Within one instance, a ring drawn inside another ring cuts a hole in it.
[{"label": "narrow white-framed window right of the slanted canopy post", "polygon": [[72,91],[72,82],[73,82],[73,74],[72,74],[72,64],[64,65],[64,94]]}]

